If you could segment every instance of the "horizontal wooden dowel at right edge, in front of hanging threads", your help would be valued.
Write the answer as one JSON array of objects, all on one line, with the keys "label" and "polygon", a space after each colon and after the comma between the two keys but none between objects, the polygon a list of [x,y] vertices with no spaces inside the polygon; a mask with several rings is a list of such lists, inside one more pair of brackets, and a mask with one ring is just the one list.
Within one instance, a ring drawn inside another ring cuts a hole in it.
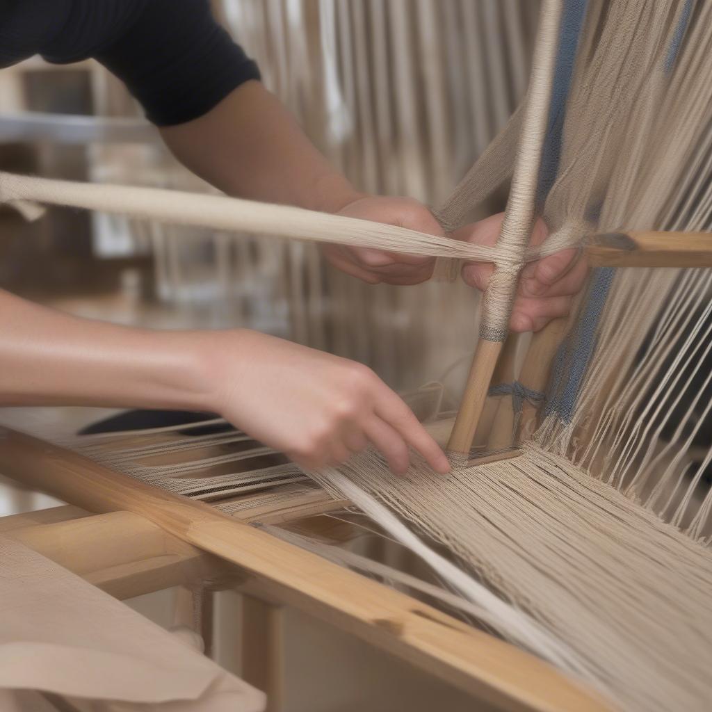
[{"label": "horizontal wooden dowel at right edge, in front of hanging threads", "polygon": [[712,267],[712,233],[625,231],[585,242],[594,267]]}]

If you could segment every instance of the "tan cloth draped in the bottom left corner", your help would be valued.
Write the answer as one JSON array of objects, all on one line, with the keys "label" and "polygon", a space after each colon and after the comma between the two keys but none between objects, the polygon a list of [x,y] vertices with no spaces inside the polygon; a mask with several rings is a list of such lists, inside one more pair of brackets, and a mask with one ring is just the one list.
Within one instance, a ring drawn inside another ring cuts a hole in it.
[{"label": "tan cloth draped in the bottom left corner", "polygon": [[0,538],[0,611],[1,701],[9,690],[41,690],[92,712],[264,709],[260,691],[7,538]]}]

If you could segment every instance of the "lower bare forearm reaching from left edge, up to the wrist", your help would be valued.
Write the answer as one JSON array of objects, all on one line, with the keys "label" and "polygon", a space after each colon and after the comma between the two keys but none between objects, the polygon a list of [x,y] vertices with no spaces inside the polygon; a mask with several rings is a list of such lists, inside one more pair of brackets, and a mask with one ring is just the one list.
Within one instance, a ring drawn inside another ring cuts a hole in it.
[{"label": "lower bare forearm reaching from left edge, up to the wrist", "polygon": [[75,318],[0,291],[0,405],[211,409],[201,354],[214,333]]}]

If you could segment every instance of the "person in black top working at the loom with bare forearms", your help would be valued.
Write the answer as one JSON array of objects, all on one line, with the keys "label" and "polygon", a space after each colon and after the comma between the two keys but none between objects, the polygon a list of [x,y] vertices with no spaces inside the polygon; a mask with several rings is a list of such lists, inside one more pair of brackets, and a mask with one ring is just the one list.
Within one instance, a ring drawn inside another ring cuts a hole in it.
[{"label": "person in black top working at the loom with bare forearms", "polygon": [[[357,191],[260,82],[207,0],[4,0],[0,66],[39,54],[95,58],[127,85],[169,150],[226,194],[441,234],[417,201]],[[455,235],[493,244],[501,216]],[[539,230],[543,238],[543,231]],[[368,283],[412,285],[429,258],[326,246],[335,268]],[[490,268],[464,269],[486,287]],[[525,270],[513,330],[567,313],[580,267],[570,253]],[[82,404],[217,412],[305,468],[373,444],[394,473],[409,448],[449,463],[397,394],[344,358],[245,329],[152,331],[75,318],[0,294],[0,405]]]}]

